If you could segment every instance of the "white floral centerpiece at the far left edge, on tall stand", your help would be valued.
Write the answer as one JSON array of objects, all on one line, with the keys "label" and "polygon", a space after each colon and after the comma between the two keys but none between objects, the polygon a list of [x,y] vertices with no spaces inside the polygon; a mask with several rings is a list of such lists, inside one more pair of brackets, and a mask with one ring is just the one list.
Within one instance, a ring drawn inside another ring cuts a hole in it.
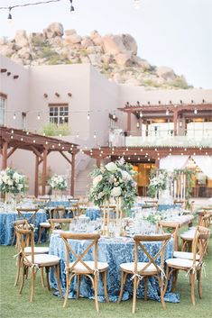
[{"label": "white floral centerpiece at the far left edge, on tall stand", "polygon": [[0,191],[18,195],[26,191],[26,178],[14,168],[5,168],[0,172]]}]

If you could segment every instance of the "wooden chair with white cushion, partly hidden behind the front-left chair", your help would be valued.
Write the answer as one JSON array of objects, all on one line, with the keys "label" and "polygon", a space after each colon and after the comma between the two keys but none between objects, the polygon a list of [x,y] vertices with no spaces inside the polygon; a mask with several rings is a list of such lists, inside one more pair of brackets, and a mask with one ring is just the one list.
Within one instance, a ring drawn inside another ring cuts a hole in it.
[{"label": "wooden chair with white cushion, partly hidden behind the front-left chair", "polygon": [[[26,220],[17,220],[14,222],[14,229],[18,228],[18,229],[24,229],[24,230],[29,230],[32,229],[32,226],[27,223]],[[15,231],[15,230],[14,230]],[[16,233],[16,235],[19,235],[18,233]],[[28,240],[26,240],[26,246],[25,246],[25,254],[26,255],[30,255],[32,253],[32,248],[29,246],[30,245],[30,241],[29,241],[29,237]],[[21,270],[21,260],[22,260],[22,246],[20,245],[20,240],[19,238],[17,238],[17,250],[18,253],[15,255],[15,257],[17,258],[17,273],[16,273],[16,277],[15,277],[15,281],[14,281],[14,286],[17,286],[18,284],[18,280],[19,280],[19,276],[20,276],[20,270]],[[34,247],[34,253],[35,254],[46,254],[49,253],[49,248],[48,247]],[[44,287],[44,279],[43,279],[43,270],[41,268],[41,286]]]}]

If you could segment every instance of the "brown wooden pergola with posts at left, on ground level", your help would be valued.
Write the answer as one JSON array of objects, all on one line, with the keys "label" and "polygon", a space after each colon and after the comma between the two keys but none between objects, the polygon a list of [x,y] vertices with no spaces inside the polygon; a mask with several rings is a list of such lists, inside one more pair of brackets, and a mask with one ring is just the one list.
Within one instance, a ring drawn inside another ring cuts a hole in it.
[{"label": "brown wooden pergola with posts at left, on ground level", "polygon": [[[35,155],[34,169],[34,195],[38,196],[39,165],[42,164],[41,194],[45,195],[47,177],[47,157],[51,152],[59,152],[71,165],[70,195],[74,195],[75,186],[75,159],[78,153],[78,145],[56,138],[46,137],[41,134],[25,130],[0,127],[0,154],[2,156],[2,169],[7,167],[9,159],[15,150],[29,150]],[[69,158],[67,153],[71,155]]]}]

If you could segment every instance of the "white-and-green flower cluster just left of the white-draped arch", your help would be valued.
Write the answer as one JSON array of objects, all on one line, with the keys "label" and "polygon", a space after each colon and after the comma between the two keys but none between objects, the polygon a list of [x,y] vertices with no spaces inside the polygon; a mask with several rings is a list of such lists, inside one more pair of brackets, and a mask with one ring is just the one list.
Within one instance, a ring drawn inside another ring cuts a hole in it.
[{"label": "white-and-green flower cluster just left of the white-draped arch", "polygon": [[165,169],[152,169],[150,173],[149,195],[154,197],[159,191],[166,190],[168,172]]}]

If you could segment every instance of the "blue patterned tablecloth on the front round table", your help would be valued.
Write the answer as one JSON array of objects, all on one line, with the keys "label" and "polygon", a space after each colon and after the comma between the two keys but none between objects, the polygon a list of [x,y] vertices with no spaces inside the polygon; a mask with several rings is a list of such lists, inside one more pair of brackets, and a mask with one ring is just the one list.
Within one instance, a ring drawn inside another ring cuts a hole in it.
[{"label": "blue patterned tablecloth on the front round table", "polygon": [[[88,241],[70,241],[71,247],[77,253],[85,250],[88,246]],[[151,254],[156,254],[159,250],[160,242],[149,242],[145,243],[147,250]],[[66,291],[66,273],[65,273],[65,262],[66,262],[66,248],[65,244],[60,238],[59,234],[51,234],[51,242],[50,242],[50,254],[57,255],[60,257],[60,281],[63,294],[65,295]],[[173,240],[168,243],[165,250],[165,259],[169,259],[173,256]],[[93,252],[90,250],[85,260],[92,260]],[[70,261],[73,259],[70,256]],[[120,238],[120,239],[106,239],[101,238],[98,242],[98,261],[107,262],[109,265],[107,272],[107,291],[109,300],[112,302],[116,302],[118,299],[118,295],[120,292],[120,282],[121,282],[121,271],[120,264],[125,262],[134,261],[134,241],[128,238]],[[147,257],[141,251],[139,254],[139,261],[148,261]],[[51,271],[51,287],[57,289],[57,282]],[[74,279],[71,283],[69,290],[69,298],[76,297],[77,290],[77,279]],[[168,286],[168,292],[165,295],[165,301],[178,303],[180,301],[180,297],[177,294],[173,294],[170,292],[171,284]],[[138,288],[138,297],[143,297],[144,287],[143,282],[140,283]],[[56,295],[59,295],[56,292]],[[90,284],[90,280],[88,277],[83,277],[80,283],[80,295],[83,297],[88,297],[94,299],[94,292],[92,286]],[[126,284],[124,286],[124,295],[123,300],[127,300],[130,296],[133,295],[133,282],[130,280],[130,275],[126,280]],[[148,284],[148,297],[161,301],[160,297],[160,288],[158,285],[158,281],[154,277],[149,278]],[[98,300],[104,302],[104,286],[101,279],[98,280]]]}]

